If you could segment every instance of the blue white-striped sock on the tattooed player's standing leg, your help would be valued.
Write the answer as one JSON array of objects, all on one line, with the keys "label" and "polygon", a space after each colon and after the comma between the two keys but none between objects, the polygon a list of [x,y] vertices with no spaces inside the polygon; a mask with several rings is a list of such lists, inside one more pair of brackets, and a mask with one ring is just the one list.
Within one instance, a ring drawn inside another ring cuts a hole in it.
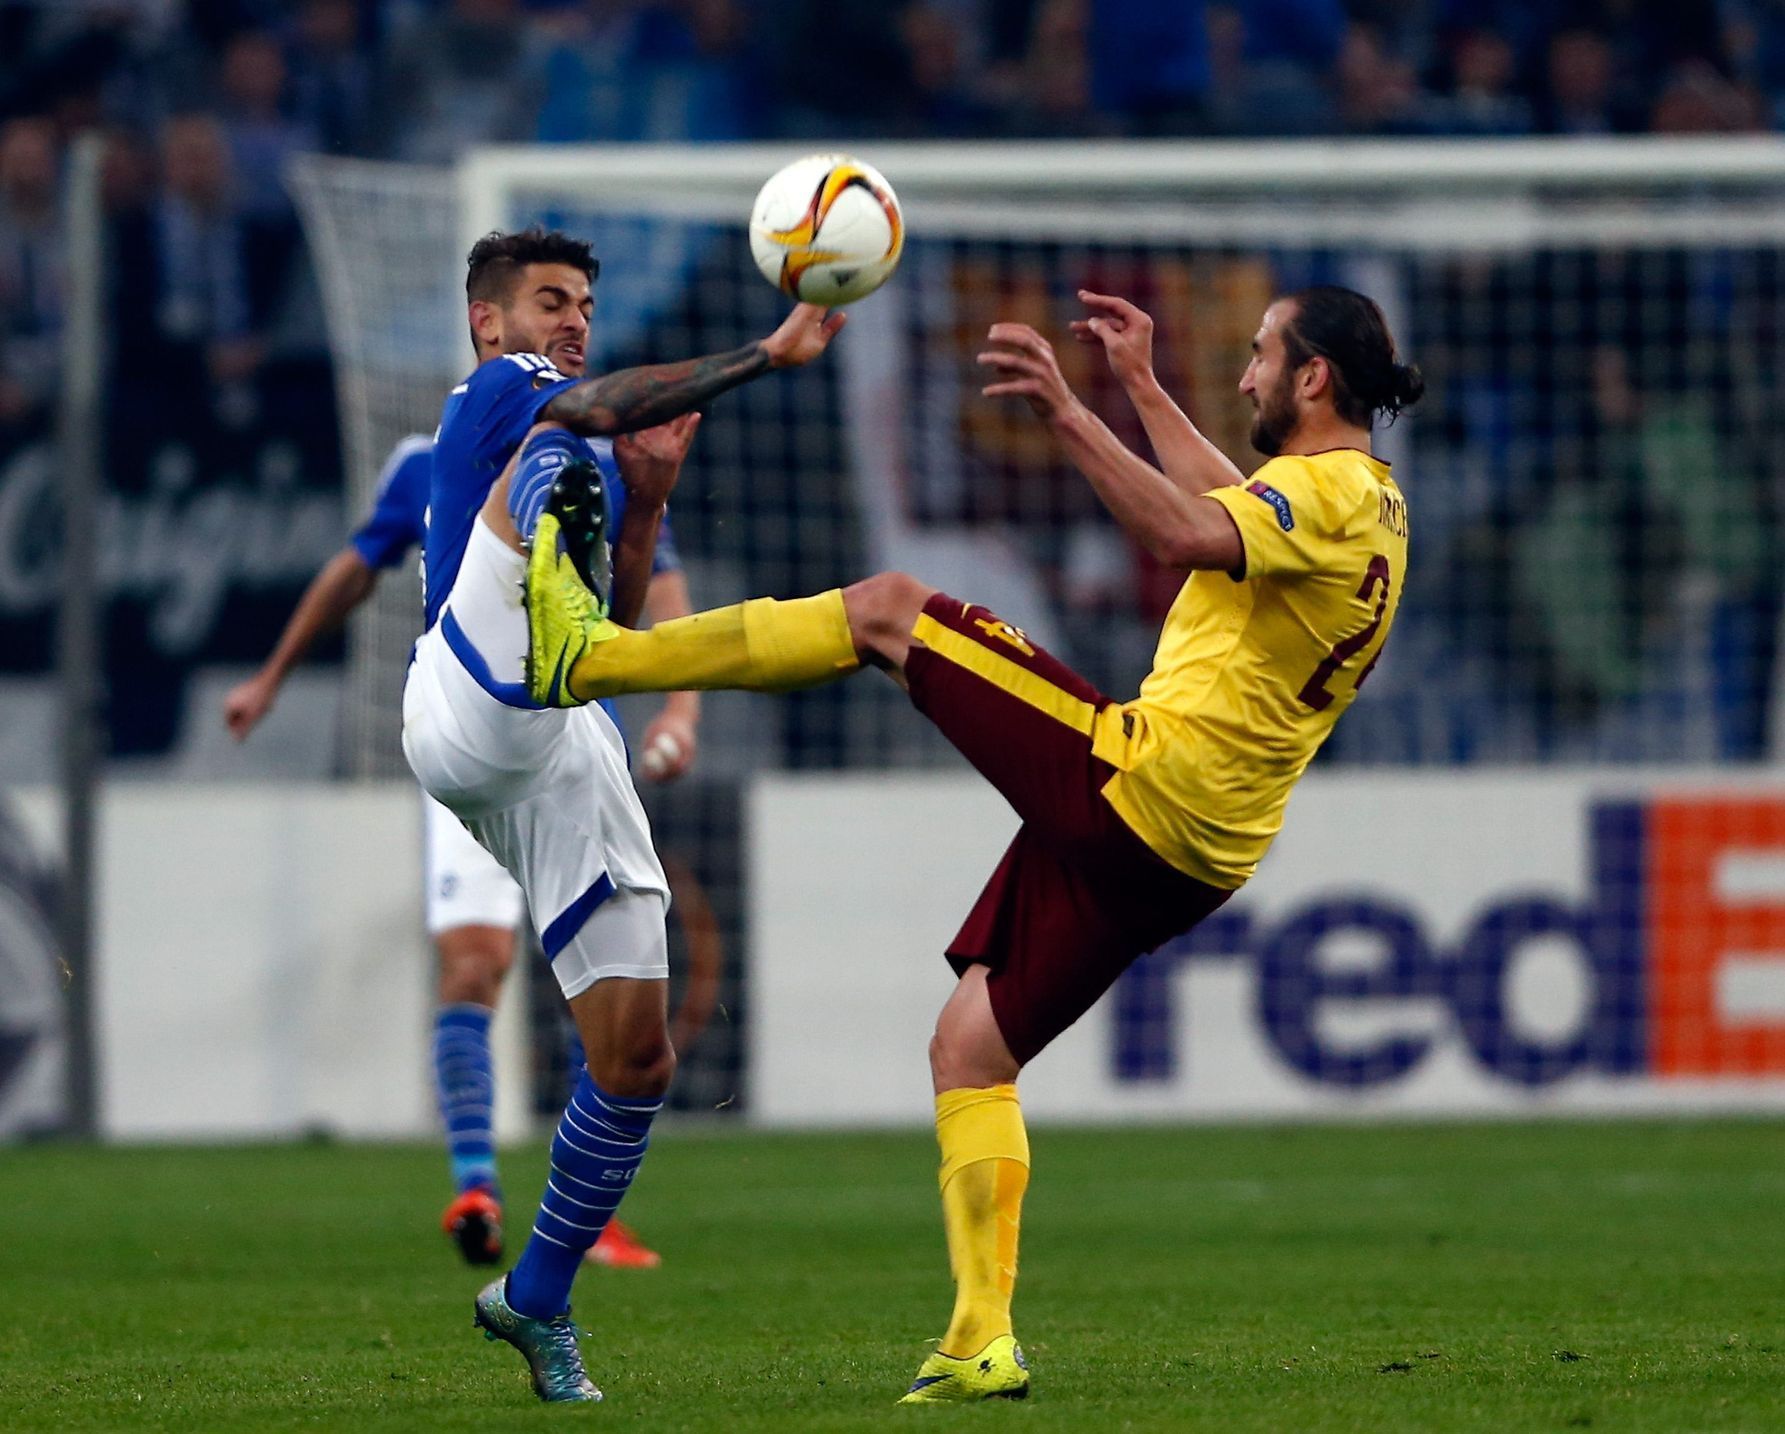
[{"label": "blue white-striped sock on the tattooed player's standing leg", "polygon": [[639,1173],[662,1100],[607,1095],[584,1071],[552,1141],[552,1173],[534,1234],[509,1271],[509,1304],[534,1320],[569,1307],[582,1254]]}]

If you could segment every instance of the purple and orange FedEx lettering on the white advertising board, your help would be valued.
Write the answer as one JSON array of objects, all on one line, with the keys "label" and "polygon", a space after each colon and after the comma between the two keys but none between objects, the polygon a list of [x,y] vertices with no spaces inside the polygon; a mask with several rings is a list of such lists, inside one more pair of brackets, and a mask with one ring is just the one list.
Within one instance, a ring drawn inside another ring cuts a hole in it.
[{"label": "purple and orange FedEx lettering on the white advertising board", "polygon": [[[1515,839],[1515,838],[1514,838]],[[1274,1054],[1332,1086],[1374,1088],[1458,1039],[1496,1077],[1546,1086],[1601,1077],[1785,1077],[1785,800],[1662,798],[1587,809],[1587,895],[1507,889],[1440,941],[1412,904],[1339,891],[1269,916],[1233,902],[1150,957],[1112,993],[1119,1080],[1176,1073],[1183,963],[1250,957],[1257,1020]],[[1417,877],[1408,877],[1417,880]],[[1512,975],[1533,943],[1578,963],[1569,1030],[1533,1032]],[[1337,959],[1367,950],[1366,961]],[[1440,1002],[1455,1036],[1333,1041],[1323,1013],[1346,1002]]]}]

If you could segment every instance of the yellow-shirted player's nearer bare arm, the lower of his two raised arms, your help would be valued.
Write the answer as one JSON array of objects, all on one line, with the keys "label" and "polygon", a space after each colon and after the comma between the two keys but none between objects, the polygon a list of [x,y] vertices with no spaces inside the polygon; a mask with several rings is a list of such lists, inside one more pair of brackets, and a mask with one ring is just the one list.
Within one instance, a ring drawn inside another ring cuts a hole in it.
[{"label": "yellow-shirted player's nearer bare arm, the lower of his two raised arms", "polygon": [[1103,505],[1167,568],[1235,571],[1246,561],[1226,509],[1187,493],[1108,430],[1067,388],[1060,361],[1026,323],[994,323],[978,363],[998,377],[989,398],[1026,398]]}]

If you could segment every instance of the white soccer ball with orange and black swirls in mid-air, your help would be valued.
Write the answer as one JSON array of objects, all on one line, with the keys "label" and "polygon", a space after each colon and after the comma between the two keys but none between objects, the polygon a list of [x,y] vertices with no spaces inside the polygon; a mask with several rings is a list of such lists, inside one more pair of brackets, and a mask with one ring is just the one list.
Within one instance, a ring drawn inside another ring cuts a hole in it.
[{"label": "white soccer ball with orange and black swirls in mid-air", "polygon": [[810,154],[776,173],[750,211],[750,252],[784,295],[853,304],[898,268],[905,218],[892,186],[846,154]]}]

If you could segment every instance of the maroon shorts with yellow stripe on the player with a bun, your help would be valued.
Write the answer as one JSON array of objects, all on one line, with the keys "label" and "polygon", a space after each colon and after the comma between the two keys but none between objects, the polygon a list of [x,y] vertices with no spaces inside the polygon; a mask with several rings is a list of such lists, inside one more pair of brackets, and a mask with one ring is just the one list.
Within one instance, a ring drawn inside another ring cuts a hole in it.
[{"label": "maroon shorts with yellow stripe on the player with a bun", "polygon": [[1091,754],[1091,720],[1110,698],[946,593],[925,604],[914,636],[910,700],[1023,818],[948,959],[991,968],[992,1016],[1028,1064],[1137,957],[1232,893],[1166,863],[1103,800],[1116,768]]}]

